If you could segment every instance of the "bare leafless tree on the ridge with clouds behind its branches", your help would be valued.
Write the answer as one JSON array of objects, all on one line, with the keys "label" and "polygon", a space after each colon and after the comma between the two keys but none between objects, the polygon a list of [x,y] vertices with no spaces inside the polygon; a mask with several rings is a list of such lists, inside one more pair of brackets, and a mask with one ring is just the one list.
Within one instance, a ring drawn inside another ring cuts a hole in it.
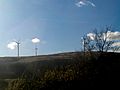
[{"label": "bare leafless tree on the ridge with clouds behind its branches", "polygon": [[83,48],[85,52],[108,52],[117,51],[120,46],[115,43],[119,43],[117,36],[120,32],[112,32],[111,27],[106,27],[105,30],[98,32],[94,30],[92,33],[88,33],[82,37]]}]

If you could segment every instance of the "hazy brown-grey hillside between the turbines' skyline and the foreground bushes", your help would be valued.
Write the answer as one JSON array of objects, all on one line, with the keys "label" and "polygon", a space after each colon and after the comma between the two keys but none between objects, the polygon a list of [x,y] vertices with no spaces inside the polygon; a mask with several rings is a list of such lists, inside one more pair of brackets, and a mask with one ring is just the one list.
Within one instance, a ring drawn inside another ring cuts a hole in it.
[{"label": "hazy brown-grey hillside between the turbines' skyline and the foreground bushes", "polygon": [[[45,71],[46,67],[54,67],[68,63],[79,52],[68,52],[50,55],[39,56],[26,56],[20,57],[0,57],[0,90],[4,90],[4,85],[8,82],[6,80],[12,80],[19,77],[25,71],[32,71],[36,68]],[[2,85],[3,84],[3,85]]]}]

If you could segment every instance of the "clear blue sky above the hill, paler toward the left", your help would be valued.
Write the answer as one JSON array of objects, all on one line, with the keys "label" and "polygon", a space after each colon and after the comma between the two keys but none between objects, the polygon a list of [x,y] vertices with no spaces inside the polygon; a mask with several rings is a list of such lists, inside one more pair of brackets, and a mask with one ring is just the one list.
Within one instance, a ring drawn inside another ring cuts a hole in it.
[{"label": "clear blue sky above the hill, paler toward the left", "polygon": [[[120,0],[0,0],[0,56],[81,50],[81,37],[112,25],[120,31]],[[39,43],[31,40],[37,38]]]}]

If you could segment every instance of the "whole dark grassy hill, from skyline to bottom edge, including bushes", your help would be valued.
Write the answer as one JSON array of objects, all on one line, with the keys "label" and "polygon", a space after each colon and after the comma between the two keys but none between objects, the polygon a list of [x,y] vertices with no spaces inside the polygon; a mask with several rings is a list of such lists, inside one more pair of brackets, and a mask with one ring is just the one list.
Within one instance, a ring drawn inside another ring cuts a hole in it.
[{"label": "whole dark grassy hill, from skyline to bottom edge, including bushes", "polygon": [[92,56],[88,53],[84,56],[70,52],[5,62],[0,66],[0,83],[7,87],[9,82],[8,90],[116,87],[120,81],[119,53],[98,55],[94,52]]}]

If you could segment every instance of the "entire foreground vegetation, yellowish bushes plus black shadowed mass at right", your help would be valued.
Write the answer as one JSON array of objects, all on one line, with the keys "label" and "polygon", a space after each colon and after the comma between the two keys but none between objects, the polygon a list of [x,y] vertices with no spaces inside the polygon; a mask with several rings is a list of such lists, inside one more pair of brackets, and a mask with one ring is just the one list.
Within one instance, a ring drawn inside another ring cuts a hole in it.
[{"label": "entire foreground vegetation, yellowish bushes plus black shadowed mass at right", "polygon": [[[97,59],[91,59],[89,56],[87,59],[81,56],[80,59],[80,56],[73,58],[70,63],[46,68],[42,75],[40,71],[27,71],[18,79],[12,80],[8,90],[65,90],[118,85],[116,82],[120,80],[118,53],[102,53]],[[117,58],[114,59],[115,57]]]}]

